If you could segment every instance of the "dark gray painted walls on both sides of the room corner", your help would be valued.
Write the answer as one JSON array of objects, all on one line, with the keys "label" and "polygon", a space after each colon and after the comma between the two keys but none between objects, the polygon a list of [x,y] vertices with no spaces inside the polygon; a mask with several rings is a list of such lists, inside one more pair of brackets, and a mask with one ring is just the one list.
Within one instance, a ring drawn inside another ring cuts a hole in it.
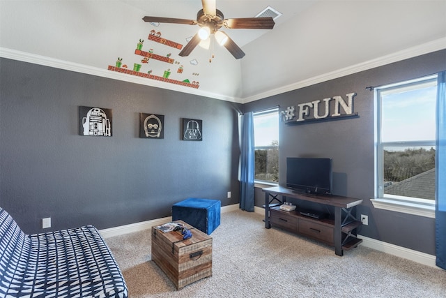
[{"label": "dark gray painted walls on both sides of the room corner", "polygon": [[[25,232],[97,228],[170,215],[187,197],[239,200],[240,105],[102,77],[1,59],[0,206]],[[369,225],[360,234],[435,254],[434,220],[374,209],[374,98],[365,87],[446,69],[446,50],[243,105],[282,108],[356,92],[359,117],[280,125],[280,184],[286,156],[333,158],[334,193],[361,198]],[[113,137],[78,132],[79,105],[113,109]],[[164,114],[164,140],[139,139],[139,112]],[[203,142],[180,140],[180,119],[203,120]],[[226,192],[232,198],[226,199]],[[256,189],[256,206],[264,195]]]}]

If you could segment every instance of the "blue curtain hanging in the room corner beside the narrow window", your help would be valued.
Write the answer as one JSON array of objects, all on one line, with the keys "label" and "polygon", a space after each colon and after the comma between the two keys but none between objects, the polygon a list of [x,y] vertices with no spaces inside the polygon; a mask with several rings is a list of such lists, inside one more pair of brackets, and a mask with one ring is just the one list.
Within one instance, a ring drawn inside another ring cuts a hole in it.
[{"label": "blue curtain hanging in the room corner beside the narrow window", "polygon": [[252,112],[242,120],[240,156],[240,209],[254,211],[254,121]]}]

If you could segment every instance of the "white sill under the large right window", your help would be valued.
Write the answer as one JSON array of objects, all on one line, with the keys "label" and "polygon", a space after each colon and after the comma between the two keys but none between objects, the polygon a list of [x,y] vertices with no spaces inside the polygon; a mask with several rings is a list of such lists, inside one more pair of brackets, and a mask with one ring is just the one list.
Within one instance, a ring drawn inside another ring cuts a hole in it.
[{"label": "white sill under the large right window", "polygon": [[386,198],[371,199],[371,203],[376,209],[384,209],[406,214],[413,214],[417,216],[435,218],[435,206],[433,205],[402,202]]}]

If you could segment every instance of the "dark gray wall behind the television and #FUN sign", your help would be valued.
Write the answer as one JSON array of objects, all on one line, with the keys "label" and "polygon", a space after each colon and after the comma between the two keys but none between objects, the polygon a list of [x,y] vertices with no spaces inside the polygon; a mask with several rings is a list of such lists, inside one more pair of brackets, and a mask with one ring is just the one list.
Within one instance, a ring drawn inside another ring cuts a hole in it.
[{"label": "dark gray wall behind the television and #FUN sign", "polygon": [[[333,193],[360,198],[359,214],[369,216],[369,225],[360,234],[435,254],[434,220],[422,216],[374,209],[374,92],[365,88],[431,75],[446,69],[446,50],[426,54],[387,66],[348,75],[336,80],[264,98],[244,105],[244,112],[275,105],[284,110],[291,105],[357,93],[354,110],[359,117],[302,125],[279,126],[279,184],[284,185],[287,156],[333,158]],[[433,116],[434,117],[434,116]],[[256,206],[264,204],[264,194],[256,189]]]}]

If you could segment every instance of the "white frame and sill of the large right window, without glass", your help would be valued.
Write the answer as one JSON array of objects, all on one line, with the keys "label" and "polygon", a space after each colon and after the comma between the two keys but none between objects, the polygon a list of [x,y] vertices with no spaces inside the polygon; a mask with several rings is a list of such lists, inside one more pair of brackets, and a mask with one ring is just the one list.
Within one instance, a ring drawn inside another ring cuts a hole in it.
[{"label": "white frame and sill of the large right window, without glass", "polygon": [[[390,195],[384,193],[384,171],[383,158],[385,147],[436,147],[436,140],[416,140],[403,142],[381,142],[381,123],[382,123],[382,105],[381,94],[392,91],[392,89],[401,89],[401,87],[413,87],[422,84],[430,84],[436,82],[437,75],[428,75],[415,80],[406,80],[395,84],[387,84],[374,89],[374,127],[375,127],[375,182],[374,182],[374,199],[371,199],[375,208],[385,209],[389,211],[397,211],[406,214],[435,218],[435,201],[423,198],[410,198],[401,195]],[[421,86],[420,86],[421,87]],[[435,117],[435,115],[433,115]]]}]

